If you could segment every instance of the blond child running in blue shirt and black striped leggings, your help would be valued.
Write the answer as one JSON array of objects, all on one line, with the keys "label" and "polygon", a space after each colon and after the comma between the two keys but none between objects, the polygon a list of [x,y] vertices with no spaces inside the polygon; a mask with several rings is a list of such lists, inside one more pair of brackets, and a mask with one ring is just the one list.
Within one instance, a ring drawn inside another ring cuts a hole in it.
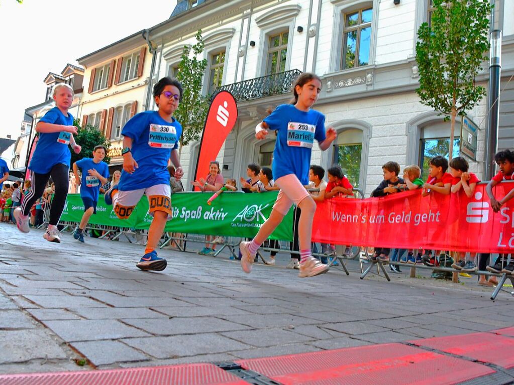
[{"label": "blond child running in blue shirt and black striped leggings", "polygon": [[71,145],[75,153],[80,153],[81,147],[75,143],[73,134],[77,133],[77,127],[73,125],[73,117],[68,112],[74,98],[73,88],[60,83],[53,88],[52,98],[56,106],[48,111],[35,126],[40,136],[28,167],[32,189],[23,199],[21,208],[16,207],[14,210],[14,217],[18,229],[22,233],[28,233],[30,208],[43,195],[46,183],[51,176],[56,185],[56,191],[50,206],[48,228],[43,238],[59,243],[61,234],[57,229],[57,223],[61,218],[68,195],[71,160],[68,145]]}]

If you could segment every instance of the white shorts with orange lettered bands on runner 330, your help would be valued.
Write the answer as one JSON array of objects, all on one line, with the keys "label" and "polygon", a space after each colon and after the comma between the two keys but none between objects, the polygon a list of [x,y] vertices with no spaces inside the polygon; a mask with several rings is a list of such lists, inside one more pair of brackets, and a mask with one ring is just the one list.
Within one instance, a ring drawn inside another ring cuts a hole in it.
[{"label": "white shorts with orange lettered bands on runner 330", "polygon": [[168,220],[172,218],[171,188],[169,184],[156,184],[152,187],[129,191],[113,190],[114,212],[118,218],[127,219],[130,217],[143,194],[148,197],[149,213],[152,217],[155,211],[164,211],[164,213],[168,213]]}]

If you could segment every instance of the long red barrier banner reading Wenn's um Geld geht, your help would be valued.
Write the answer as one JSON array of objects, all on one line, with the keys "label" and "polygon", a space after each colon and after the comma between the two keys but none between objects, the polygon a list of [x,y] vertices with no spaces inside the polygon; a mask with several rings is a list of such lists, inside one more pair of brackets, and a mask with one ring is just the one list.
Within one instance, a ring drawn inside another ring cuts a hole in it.
[{"label": "long red barrier banner reading Wenn's um Geld geht", "polygon": [[[313,241],[394,248],[428,248],[482,253],[514,252],[514,199],[494,213],[485,191],[445,196],[421,190],[383,198],[332,198],[318,203]],[[497,200],[514,182],[493,188]]]}]

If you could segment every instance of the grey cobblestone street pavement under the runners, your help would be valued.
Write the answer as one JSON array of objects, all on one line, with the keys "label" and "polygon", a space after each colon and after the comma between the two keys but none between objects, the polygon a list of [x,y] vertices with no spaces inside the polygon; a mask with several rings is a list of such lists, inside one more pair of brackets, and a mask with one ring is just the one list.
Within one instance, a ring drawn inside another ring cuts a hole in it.
[{"label": "grey cobblestone street pavement under the runners", "polygon": [[[514,298],[476,284],[332,269],[313,278],[166,249],[161,273],[143,246],[0,224],[0,373],[232,361],[487,331],[514,324]],[[476,278],[472,278],[475,282]],[[84,366],[75,360],[87,359]]]}]

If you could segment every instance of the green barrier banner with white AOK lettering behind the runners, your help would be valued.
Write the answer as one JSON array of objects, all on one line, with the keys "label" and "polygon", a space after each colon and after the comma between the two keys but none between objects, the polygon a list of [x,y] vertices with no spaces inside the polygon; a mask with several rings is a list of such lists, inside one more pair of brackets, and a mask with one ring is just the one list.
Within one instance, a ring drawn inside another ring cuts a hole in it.
[{"label": "green barrier banner with white AOK lettering behind the runners", "polygon": [[[264,221],[271,214],[277,191],[261,194],[223,192],[212,205],[207,200],[210,193],[182,192],[173,194],[171,205],[173,219],[166,224],[166,231],[221,235],[231,237],[254,237]],[[132,216],[121,220],[116,217],[112,206],[107,206],[100,196],[97,214],[91,216],[89,223],[107,226],[148,229],[152,217],[148,212],[146,197],[137,204]],[[79,194],[68,194],[61,221],[80,222],[84,205]],[[271,239],[292,240],[292,209],[271,235]]]}]

